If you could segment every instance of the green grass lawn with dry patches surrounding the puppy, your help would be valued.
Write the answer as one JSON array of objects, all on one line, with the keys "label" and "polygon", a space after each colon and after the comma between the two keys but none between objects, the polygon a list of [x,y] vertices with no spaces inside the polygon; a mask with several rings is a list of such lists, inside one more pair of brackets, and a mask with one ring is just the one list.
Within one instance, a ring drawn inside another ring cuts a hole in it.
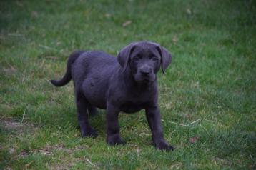
[{"label": "green grass lawn with dry patches surrounding the puppy", "polygon": [[[0,9],[0,169],[256,168],[255,1],[0,1]],[[142,111],[119,116],[125,146],[105,143],[104,111],[92,118],[97,139],[82,139],[73,85],[48,81],[76,49],[116,55],[141,40],[172,52],[167,75],[158,74],[172,152],[151,145]]]}]

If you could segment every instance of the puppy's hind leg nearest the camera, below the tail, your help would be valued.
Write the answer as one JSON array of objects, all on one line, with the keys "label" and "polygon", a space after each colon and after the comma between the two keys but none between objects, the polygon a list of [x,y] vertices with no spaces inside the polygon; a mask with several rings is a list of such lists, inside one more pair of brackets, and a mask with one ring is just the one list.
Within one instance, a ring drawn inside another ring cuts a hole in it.
[{"label": "puppy's hind leg nearest the camera, below the tail", "polygon": [[77,103],[77,119],[80,126],[80,131],[83,137],[97,137],[97,132],[92,129],[92,126],[89,125],[88,120],[88,106],[89,103],[85,99],[84,95],[81,93],[76,94],[76,103]]}]

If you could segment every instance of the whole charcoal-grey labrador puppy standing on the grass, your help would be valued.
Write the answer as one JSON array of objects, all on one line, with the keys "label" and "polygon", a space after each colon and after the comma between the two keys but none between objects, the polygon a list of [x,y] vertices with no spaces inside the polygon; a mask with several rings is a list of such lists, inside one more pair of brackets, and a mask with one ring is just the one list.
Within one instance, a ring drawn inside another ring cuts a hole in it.
[{"label": "whole charcoal-grey labrador puppy standing on the grass", "polygon": [[154,146],[174,148],[164,140],[158,106],[157,71],[171,63],[167,49],[150,41],[129,44],[117,58],[102,51],[76,51],[69,56],[67,72],[55,86],[74,81],[77,115],[82,136],[96,137],[88,114],[107,109],[107,143],[124,144],[119,134],[120,111],[134,113],[145,109]]}]

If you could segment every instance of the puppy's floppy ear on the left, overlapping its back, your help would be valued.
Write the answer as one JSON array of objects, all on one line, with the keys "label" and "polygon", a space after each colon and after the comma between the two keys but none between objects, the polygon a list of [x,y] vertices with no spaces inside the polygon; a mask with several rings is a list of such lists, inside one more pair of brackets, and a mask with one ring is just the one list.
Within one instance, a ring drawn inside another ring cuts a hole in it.
[{"label": "puppy's floppy ear on the left, overlapping its back", "polygon": [[127,69],[127,65],[129,63],[130,56],[132,51],[134,50],[135,44],[129,44],[122,49],[119,54],[117,55],[117,61],[123,68],[123,72]]}]

